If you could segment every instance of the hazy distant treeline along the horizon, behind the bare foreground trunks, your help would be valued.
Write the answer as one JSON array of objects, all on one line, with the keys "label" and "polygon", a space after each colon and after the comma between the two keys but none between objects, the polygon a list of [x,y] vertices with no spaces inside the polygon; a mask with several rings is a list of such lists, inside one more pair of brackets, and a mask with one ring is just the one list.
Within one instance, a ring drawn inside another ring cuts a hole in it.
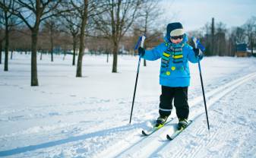
[{"label": "hazy distant treeline along the horizon, behind the bare foreground trunks", "polygon": [[[163,42],[164,32],[165,28],[150,31],[147,35],[150,36],[150,38],[148,38],[145,43],[147,47],[150,48]],[[133,54],[134,43],[137,37],[140,36],[140,33],[141,31],[138,31],[136,26],[134,26],[131,32],[126,33],[120,41],[119,53]],[[248,49],[252,52],[256,46],[256,17],[251,17],[242,26],[232,28],[226,28],[226,25],[222,22],[215,24],[213,19],[211,24],[207,23],[201,29],[191,31],[188,34],[201,39],[201,43],[206,47],[205,55],[234,56],[236,50],[235,46],[239,43],[247,44]],[[30,30],[24,25],[11,27],[9,49],[20,52],[30,52],[30,36]],[[53,49],[54,53],[73,52],[74,42],[72,36],[67,33],[66,30],[63,30],[62,25],[55,25],[51,32],[51,26],[49,26],[49,22],[46,21],[39,31],[38,41],[37,49],[39,52],[50,53],[51,49]],[[2,41],[2,46],[5,46],[5,40]],[[79,40],[77,40],[76,48],[77,46],[79,46]],[[85,47],[89,49],[90,53],[112,53],[112,41],[102,36],[86,36]]]}]

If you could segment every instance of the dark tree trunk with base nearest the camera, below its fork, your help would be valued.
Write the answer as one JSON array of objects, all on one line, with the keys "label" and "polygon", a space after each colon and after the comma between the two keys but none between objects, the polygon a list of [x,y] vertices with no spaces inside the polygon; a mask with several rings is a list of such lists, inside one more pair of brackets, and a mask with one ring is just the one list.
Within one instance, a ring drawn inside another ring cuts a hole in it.
[{"label": "dark tree trunk with base nearest the camera, below its fork", "polygon": [[37,35],[38,30],[31,31],[31,86],[38,86],[37,79],[37,64],[36,64],[36,51],[37,51]]}]

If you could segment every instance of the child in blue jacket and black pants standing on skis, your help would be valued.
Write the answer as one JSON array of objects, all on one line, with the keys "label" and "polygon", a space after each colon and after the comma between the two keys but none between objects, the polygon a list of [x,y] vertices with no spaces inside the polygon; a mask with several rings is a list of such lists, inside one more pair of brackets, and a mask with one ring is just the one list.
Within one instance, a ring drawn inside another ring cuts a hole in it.
[{"label": "child in blue jacket and black pants standing on skis", "polygon": [[178,128],[188,125],[188,86],[190,71],[188,61],[197,63],[203,58],[199,49],[193,49],[187,44],[188,38],[180,23],[167,25],[164,43],[152,50],[138,49],[139,55],[146,60],[161,58],[160,85],[160,116],[156,120],[156,127],[163,125],[172,112],[172,100],[179,118]]}]

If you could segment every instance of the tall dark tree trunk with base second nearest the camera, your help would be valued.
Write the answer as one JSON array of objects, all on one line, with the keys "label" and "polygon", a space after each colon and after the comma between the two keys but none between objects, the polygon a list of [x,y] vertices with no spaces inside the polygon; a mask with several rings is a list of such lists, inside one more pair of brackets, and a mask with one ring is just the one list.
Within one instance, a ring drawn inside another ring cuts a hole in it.
[{"label": "tall dark tree trunk with base second nearest the camera", "polygon": [[84,0],[84,14],[82,17],[82,24],[81,24],[80,46],[79,46],[79,54],[77,59],[76,77],[82,77],[82,62],[83,62],[83,56],[84,56],[84,30],[87,24],[87,13],[88,13],[88,0]]}]

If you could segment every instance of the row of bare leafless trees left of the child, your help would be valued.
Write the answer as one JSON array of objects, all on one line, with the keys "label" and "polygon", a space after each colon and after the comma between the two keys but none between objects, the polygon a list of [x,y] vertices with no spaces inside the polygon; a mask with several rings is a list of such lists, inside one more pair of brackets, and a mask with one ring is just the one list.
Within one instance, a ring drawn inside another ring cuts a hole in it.
[{"label": "row of bare leafless trees left of the child", "polygon": [[[61,40],[67,39],[65,36],[72,37],[72,42],[67,40],[62,43],[73,44],[73,65],[77,43],[79,44],[76,77],[82,77],[86,37],[88,41],[90,38],[100,38],[107,42],[106,47],[111,43],[109,49],[113,54],[112,72],[117,72],[119,44],[122,38],[128,32],[131,34],[131,27],[136,23],[141,24],[141,19],[145,21],[143,32],[150,34],[148,26],[150,17],[157,16],[157,14],[144,8],[156,6],[157,2],[153,0],[2,0],[0,1],[0,44],[1,46],[2,43],[5,44],[5,71],[8,71],[10,33],[15,28],[12,32],[13,36],[17,34],[30,36],[30,39],[24,38],[24,46],[18,46],[21,43],[17,45],[12,43],[11,47],[27,49],[27,46],[30,46],[31,86],[39,85],[36,52],[38,49],[46,49],[40,48],[45,42],[42,39],[46,34],[49,36],[50,46],[47,49],[52,54],[52,61],[56,36],[61,37]],[[140,31],[138,32],[141,33]],[[95,40],[93,42],[95,43]],[[96,45],[100,47],[100,43]]]}]

